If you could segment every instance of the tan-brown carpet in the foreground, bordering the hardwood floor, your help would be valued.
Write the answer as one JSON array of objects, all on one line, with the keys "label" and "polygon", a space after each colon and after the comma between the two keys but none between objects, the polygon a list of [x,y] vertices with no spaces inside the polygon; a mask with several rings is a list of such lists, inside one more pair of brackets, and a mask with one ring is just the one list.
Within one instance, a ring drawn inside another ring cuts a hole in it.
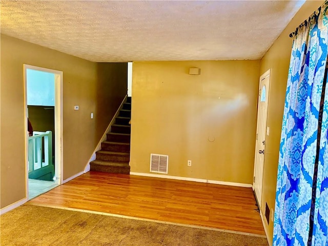
[{"label": "tan-brown carpet in the foreground, bordering the hardwood floor", "polygon": [[25,204],[0,217],[2,246],[268,246],[266,238]]}]

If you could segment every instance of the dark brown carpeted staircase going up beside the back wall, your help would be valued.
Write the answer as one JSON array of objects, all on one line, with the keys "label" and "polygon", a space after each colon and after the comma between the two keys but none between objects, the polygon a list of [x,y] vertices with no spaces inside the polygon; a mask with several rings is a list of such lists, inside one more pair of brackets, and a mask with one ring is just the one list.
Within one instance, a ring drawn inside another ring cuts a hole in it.
[{"label": "dark brown carpeted staircase going up beside the back wall", "polygon": [[90,170],[105,173],[130,174],[131,97],[127,98],[107,139],[101,142],[101,150],[90,162]]}]

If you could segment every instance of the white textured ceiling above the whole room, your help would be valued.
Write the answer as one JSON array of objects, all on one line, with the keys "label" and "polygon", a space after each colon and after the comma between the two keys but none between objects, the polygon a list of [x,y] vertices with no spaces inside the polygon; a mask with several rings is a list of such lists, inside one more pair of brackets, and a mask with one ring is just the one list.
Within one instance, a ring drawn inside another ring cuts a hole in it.
[{"label": "white textured ceiling above the whole room", "polygon": [[1,32],[91,61],[259,59],[302,1],[1,1]]}]

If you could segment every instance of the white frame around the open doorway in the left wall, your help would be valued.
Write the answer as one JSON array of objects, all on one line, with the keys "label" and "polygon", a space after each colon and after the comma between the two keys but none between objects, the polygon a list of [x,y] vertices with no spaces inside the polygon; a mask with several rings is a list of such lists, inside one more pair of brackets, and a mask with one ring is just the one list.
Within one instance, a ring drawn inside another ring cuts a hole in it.
[{"label": "white frame around the open doorway in the left wall", "polygon": [[[53,73],[55,75],[55,183],[63,183],[63,72],[48,68],[24,64],[24,116],[26,119],[25,132],[27,133],[27,69]],[[29,197],[29,172],[28,172],[28,135],[25,137],[25,173],[26,173],[26,198]]]}]

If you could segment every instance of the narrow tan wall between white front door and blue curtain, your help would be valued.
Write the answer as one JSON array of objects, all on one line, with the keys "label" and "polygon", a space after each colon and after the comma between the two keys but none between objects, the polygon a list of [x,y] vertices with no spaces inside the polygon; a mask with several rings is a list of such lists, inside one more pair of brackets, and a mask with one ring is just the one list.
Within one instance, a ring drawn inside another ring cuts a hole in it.
[{"label": "narrow tan wall between white front door and blue curtain", "polygon": [[[268,203],[270,210],[274,209],[275,206],[281,124],[293,42],[292,38],[289,37],[289,34],[295,31],[296,27],[318,9],[322,3],[323,1],[306,1],[300,11],[295,15],[290,24],[281,33],[280,37],[261,60],[261,74],[271,68],[270,101],[268,110],[270,135],[267,136],[267,145],[265,146],[263,195],[261,205],[263,214],[265,213],[265,202]],[[272,240],[273,221],[270,221],[267,229],[269,232],[269,238]]]}]

